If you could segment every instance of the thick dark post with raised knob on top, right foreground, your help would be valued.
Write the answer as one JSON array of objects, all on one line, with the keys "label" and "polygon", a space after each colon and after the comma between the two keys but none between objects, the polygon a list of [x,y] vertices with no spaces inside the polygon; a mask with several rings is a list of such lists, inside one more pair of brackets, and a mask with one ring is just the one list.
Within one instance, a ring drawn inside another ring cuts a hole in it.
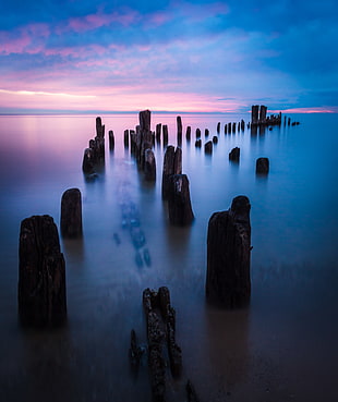
[{"label": "thick dark post with raised knob on top, right foreground", "polygon": [[250,202],[233,198],[231,208],[215,212],[208,223],[206,297],[226,308],[250,302]]}]

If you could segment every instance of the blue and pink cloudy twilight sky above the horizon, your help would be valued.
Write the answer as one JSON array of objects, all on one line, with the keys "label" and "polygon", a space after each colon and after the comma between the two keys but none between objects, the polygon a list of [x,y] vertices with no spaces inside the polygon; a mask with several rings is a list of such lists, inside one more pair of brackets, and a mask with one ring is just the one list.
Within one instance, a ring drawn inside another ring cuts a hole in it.
[{"label": "blue and pink cloudy twilight sky above the horizon", "polygon": [[336,0],[0,2],[0,113],[338,112]]}]

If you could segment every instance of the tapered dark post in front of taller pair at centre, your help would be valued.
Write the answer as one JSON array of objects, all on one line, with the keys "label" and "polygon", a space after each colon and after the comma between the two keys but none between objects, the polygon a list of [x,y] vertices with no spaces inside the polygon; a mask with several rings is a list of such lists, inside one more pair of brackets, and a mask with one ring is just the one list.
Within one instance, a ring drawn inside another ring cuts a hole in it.
[{"label": "tapered dark post in front of taller pair at centre", "polygon": [[186,226],[194,220],[186,174],[174,174],[170,178],[168,200],[169,221],[171,224]]}]

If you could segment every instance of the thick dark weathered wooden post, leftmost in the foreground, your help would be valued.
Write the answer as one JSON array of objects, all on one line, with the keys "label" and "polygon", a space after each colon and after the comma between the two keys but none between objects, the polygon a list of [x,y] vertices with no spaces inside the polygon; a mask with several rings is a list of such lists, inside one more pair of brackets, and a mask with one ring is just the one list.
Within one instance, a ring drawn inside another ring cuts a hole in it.
[{"label": "thick dark weathered wooden post, leftmost in the foreground", "polygon": [[67,319],[65,264],[48,215],[21,222],[17,302],[24,326],[55,327]]}]

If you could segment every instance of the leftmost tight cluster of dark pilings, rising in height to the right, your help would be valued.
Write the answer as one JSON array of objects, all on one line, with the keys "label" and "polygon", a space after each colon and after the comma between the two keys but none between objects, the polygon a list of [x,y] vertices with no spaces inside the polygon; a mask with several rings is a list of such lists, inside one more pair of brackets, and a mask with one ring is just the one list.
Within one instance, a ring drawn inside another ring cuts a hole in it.
[{"label": "leftmost tight cluster of dark pilings, rising in height to the right", "polygon": [[97,165],[105,160],[105,125],[101,118],[96,118],[96,136],[89,139],[89,146],[84,150],[82,170],[87,175],[96,173]]}]

